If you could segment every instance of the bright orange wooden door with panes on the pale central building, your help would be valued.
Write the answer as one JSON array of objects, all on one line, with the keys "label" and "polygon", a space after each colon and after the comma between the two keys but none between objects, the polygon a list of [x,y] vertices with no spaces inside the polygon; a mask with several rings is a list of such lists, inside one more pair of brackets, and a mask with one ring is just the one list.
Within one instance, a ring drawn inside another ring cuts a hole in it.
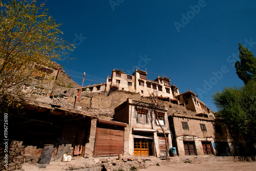
[{"label": "bright orange wooden door with panes on the pale central building", "polygon": [[147,139],[134,138],[134,156],[149,156]]}]

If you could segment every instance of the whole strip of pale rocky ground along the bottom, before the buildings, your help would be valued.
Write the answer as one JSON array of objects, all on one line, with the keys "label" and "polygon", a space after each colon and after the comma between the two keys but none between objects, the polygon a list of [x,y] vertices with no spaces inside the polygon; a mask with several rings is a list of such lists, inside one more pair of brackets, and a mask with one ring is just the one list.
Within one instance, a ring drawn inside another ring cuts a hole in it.
[{"label": "whole strip of pale rocky ground along the bottom, before the buildings", "polygon": [[188,156],[171,157],[168,161],[156,157],[118,157],[101,158],[72,158],[71,162],[55,162],[50,164],[24,163],[19,168],[24,171],[32,170],[74,170],[74,171],[101,171],[101,170],[256,170],[256,162],[252,158],[216,157],[216,156]]}]

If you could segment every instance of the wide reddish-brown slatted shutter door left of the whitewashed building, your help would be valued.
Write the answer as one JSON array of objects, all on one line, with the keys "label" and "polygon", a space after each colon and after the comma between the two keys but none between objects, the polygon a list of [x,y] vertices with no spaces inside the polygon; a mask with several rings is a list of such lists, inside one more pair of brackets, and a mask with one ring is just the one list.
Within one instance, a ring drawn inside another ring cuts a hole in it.
[{"label": "wide reddish-brown slatted shutter door left of the whitewashed building", "polygon": [[94,157],[123,154],[123,127],[97,124]]}]

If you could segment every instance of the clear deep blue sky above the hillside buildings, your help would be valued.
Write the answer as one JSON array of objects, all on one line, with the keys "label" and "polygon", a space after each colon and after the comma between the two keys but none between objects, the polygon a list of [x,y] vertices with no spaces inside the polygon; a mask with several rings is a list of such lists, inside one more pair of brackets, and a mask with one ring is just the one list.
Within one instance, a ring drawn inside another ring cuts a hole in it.
[{"label": "clear deep blue sky above the hillside buildings", "polygon": [[78,84],[83,72],[88,85],[138,66],[148,79],[170,76],[180,93],[191,87],[216,112],[212,93],[243,86],[232,66],[238,42],[256,54],[256,0],[48,0],[46,8],[76,46],[75,60],[58,63],[80,73],[68,73]]}]

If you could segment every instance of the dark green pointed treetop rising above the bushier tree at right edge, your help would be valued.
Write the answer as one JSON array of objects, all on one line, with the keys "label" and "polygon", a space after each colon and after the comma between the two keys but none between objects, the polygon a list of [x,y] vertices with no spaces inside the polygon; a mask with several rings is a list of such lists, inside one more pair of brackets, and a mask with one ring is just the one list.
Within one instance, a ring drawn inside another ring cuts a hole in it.
[{"label": "dark green pointed treetop rising above the bushier tree at right edge", "polygon": [[256,75],[256,58],[245,47],[239,43],[239,58],[240,62],[236,61],[234,66],[236,67],[239,78],[244,81],[245,84]]}]

